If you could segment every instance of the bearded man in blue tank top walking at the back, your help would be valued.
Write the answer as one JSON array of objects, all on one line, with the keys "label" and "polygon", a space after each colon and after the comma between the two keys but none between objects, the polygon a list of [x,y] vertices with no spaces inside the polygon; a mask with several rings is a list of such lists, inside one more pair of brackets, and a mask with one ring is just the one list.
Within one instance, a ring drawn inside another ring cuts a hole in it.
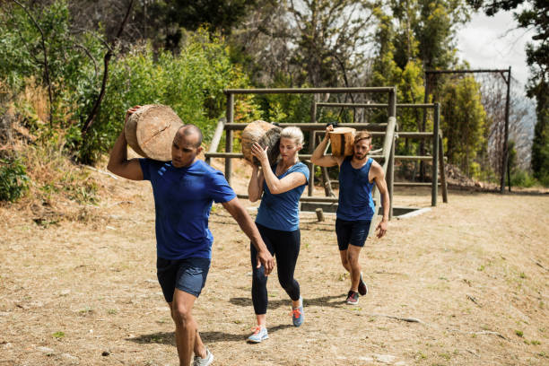
[{"label": "bearded man in blue tank top walking at the back", "polygon": [[374,184],[379,189],[383,218],[376,231],[378,238],[387,232],[389,195],[385,172],[378,162],[368,157],[371,150],[371,135],[367,131],[360,131],[354,136],[353,156],[326,155],[328,135],[334,127],[326,128],[324,140],[318,144],[310,161],[321,167],[339,166],[339,202],[335,220],[335,233],[341,263],[351,274],[351,289],[347,294],[346,302],[354,305],[358,303],[359,293],[368,293],[366,283],[362,281],[359,255],[370,231],[371,220],[374,216],[374,204],[371,190]]}]

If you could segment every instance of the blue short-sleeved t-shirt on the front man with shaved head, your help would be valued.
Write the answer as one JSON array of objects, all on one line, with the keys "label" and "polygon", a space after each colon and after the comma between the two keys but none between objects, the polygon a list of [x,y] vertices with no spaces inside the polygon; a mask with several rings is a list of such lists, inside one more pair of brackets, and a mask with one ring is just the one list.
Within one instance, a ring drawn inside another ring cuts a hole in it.
[{"label": "blue short-sleeved t-shirt on the front man with shaved head", "polygon": [[139,162],[143,178],[153,186],[158,257],[211,259],[212,202],[228,202],[236,196],[222,172],[200,160],[185,168],[176,168],[171,161]]}]

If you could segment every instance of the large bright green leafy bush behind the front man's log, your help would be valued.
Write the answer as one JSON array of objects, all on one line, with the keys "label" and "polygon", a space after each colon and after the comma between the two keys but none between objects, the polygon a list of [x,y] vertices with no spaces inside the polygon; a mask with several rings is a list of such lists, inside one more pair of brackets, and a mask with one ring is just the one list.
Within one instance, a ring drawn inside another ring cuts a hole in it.
[{"label": "large bright green leafy bush behind the front man's log", "polygon": [[[184,123],[199,126],[207,142],[225,113],[223,89],[246,86],[248,77],[231,64],[224,40],[205,30],[189,33],[175,56],[168,51],[155,54],[149,46],[135,47],[111,62],[107,93],[78,159],[94,162],[107,153],[122,129],[126,109],[137,104],[169,105]],[[235,106],[240,121],[258,116],[253,100],[237,101]]]}]

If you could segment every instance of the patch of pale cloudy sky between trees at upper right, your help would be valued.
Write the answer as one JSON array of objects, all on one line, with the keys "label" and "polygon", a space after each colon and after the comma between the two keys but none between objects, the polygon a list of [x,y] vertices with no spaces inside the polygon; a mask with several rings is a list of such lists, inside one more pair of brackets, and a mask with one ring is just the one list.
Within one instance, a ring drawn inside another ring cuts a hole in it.
[{"label": "patch of pale cloudy sky between trees at upper right", "polygon": [[532,32],[517,29],[512,12],[499,12],[494,16],[473,13],[471,22],[457,32],[459,57],[469,62],[472,69],[511,66],[511,75],[521,83],[527,83],[526,43]]}]

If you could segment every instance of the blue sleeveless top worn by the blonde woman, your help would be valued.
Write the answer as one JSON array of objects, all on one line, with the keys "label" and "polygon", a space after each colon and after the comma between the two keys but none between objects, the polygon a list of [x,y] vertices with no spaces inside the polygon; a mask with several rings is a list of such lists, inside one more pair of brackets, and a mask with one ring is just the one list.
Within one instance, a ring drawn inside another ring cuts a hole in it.
[{"label": "blue sleeveless top worn by the blonde woman", "polygon": [[[276,171],[276,164],[273,165],[272,169]],[[292,165],[289,170],[284,171],[277,178],[283,179],[288,174],[296,171],[302,173],[305,179],[309,181],[309,168],[301,161]],[[256,222],[274,230],[298,230],[300,228],[300,197],[305,186],[307,186],[307,182],[284,193],[273,195],[264,180],[263,197],[257,211]]]}]

